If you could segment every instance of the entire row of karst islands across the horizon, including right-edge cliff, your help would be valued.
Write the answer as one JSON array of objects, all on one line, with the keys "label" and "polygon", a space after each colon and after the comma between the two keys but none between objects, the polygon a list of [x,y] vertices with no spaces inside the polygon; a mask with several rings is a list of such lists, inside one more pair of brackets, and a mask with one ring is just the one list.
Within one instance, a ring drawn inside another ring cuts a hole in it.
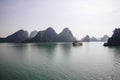
[{"label": "entire row of karst islands across the horizon, including right-edge cliff", "polygon": [[39,42],[107,42],[104,46],[119,46],[120,45],[120,28],[113,31],[112,37],[104,35],[101,38],[89,37],[86,35],[81,40],[77,40],[69,28],[64,28],[59,34],[52,27],[43,31],[32,31],[30,34],[23,29],[5,37],[0,38],[0,42],[15,42],[15,43],[39,43]]}]

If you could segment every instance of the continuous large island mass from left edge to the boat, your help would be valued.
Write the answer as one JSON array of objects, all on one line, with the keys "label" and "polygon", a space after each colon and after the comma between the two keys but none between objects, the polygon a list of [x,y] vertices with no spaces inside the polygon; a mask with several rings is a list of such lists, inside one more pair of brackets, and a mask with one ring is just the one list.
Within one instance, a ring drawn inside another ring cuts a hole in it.
[{"label": "continuous large island mass from left edge to the boat", "polygon": [[43,31],[33,31],[30,36],[28,31],[19,30],[6,38],[0,38],[0,42],[22,42],[22,43],[37,43],[37,42],[72,42],[76,41],[72,32],[68,28],[64,28],[60,34],[57,34],[51,27]]}]

